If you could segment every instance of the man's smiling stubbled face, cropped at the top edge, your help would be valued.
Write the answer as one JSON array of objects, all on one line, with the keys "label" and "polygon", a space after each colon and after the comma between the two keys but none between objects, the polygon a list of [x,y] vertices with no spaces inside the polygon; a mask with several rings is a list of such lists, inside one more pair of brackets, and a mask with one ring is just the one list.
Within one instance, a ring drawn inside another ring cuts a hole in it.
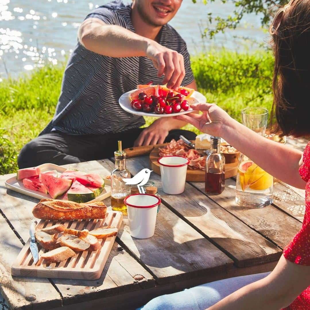
[{"label": "man's smiling stubbled face, cropped at the top edge", "polygon": [[139,15],[149,25],[167,24],[181,6],[182,0],[135,0]]}]

